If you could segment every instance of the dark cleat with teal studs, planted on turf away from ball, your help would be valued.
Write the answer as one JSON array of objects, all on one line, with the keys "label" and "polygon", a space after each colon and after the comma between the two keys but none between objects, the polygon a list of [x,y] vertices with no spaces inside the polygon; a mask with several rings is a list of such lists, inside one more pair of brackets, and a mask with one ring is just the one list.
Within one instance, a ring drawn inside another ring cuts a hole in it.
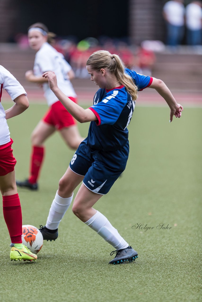
[{"label": "dark cleat with teal studs, planted on turf away from ball", "polygon": [[137,252],[129,246],[126,249],[120,249],[118,251],[112,251],[110,255],[116,253],[116,256],[109,264],[121,264],[135,261],[138,258]]}]

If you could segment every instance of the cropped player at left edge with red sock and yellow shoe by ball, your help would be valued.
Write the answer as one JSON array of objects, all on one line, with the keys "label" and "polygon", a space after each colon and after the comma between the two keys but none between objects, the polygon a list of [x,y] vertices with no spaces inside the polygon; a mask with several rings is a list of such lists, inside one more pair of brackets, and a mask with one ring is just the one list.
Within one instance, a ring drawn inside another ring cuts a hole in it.
[{"label": "cropped player at left edge with red sock and yellow shoe by ball", "polygon": [[[15,183],[15,164],[7,121],[29,107],[25,89],[15,77],[0,65],[0,191],[3,197],[3,215],[11,238],[11,260],[36,260],[37,255],[22,244],[22,211]],[[4,88],[15,104],[4,111],[1,104]]]}]

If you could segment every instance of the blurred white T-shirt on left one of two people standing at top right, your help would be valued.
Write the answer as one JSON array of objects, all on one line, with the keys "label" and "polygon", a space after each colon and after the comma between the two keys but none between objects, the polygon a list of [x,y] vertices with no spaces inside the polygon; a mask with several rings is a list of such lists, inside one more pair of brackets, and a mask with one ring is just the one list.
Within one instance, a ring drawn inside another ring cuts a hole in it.
[{"label": "blurred white T-shirt on left one of two people standing at top right", "polygon": [[168,1],[163,7],[164,13],[167,15],[168,22],[175,26],[184,25],[184,5],[176,1]]}]

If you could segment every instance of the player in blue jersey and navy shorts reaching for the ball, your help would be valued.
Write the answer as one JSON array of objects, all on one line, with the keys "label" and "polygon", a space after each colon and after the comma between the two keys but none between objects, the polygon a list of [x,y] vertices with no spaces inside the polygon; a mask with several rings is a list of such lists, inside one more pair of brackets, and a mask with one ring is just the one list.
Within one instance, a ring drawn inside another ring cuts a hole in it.
[{"label": "player in blue jersey and navy shorts reaching for the ball", "polygon": [[116,250],[109,263],[133,261],[137,252],[121,237],[106,217],[93,208],[94,204],[111,189],[124,171],[129,155],[127,126],[135,107],[137,90],[151,87],[169,105],[170,122],[181,116],[183,107],[177,104],[167,86],[159,79],[124,69],[116,54],[100,50],[87,60],[87,70],[100,89],[94,104],[84,110],[72,103],[58,88],[53,72],[45,72],[49,86],[61,103],[81,123],[91,121],[88,137],[80,144],[70,165],[59,181],[59,188],[52,202],[45,227],[41,226],[44,240],[58,237],[58,225],[73,199],[74,189],[81,183],[72,207],[73,213],[96,231]]}]

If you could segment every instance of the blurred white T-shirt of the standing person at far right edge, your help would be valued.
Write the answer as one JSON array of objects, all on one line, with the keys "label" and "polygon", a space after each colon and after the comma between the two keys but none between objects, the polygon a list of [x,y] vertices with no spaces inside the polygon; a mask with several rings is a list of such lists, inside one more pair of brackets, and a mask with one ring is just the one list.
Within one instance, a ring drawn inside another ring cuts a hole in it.
[{"label": "blurred white T-shirt of the standing person at far right edge", "polygon": [[186,7],[186,25],[191,31],[202,28],[202,8],[195,3],[190,3]]}]

